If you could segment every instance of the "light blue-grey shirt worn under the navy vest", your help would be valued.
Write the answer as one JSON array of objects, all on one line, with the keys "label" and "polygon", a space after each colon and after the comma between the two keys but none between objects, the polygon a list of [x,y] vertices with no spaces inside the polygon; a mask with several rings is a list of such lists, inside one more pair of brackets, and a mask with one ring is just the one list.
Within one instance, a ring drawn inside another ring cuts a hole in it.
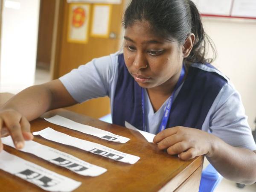
[{"label": "light blue-grey shirt worn under the navy vest", "polygon": [[[221,74],[218,70],[207,67],[203,64],[192,64],[205,71],[213,71]],[[111,99],[111,112],[113,109],[113,97],[118,79],[118,53],[102,58],[96,58],[78,69],[60,78],[70,95],[79,103],[102,96],[109,96]],[[226,78],[227,79],[227,78]],[[178,87],[175,97],[179,93]],[[149,100],[147,91],[144,90],[145,101],[145,125],[148,132],[156,134],[163,117],[166,102],[161,108],[154,112]],[[227,79],[227,84],[222,87],[215,98],[205,120],[202,130],[221,138],[226,143],[250,150],[256,150],[256,144],[251,134],[251,129],[244,114],[244,107],[239,93],[233,84]]]}]

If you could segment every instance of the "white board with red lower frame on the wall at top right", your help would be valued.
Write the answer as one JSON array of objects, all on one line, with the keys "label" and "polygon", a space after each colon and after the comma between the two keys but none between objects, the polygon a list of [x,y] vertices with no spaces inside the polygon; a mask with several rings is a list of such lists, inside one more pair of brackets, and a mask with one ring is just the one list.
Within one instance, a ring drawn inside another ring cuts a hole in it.
[{"label": "white board with red lower frame on the wall at top right", "polygon": [[202,16],[256,19],[256,0],[192,0]]}]

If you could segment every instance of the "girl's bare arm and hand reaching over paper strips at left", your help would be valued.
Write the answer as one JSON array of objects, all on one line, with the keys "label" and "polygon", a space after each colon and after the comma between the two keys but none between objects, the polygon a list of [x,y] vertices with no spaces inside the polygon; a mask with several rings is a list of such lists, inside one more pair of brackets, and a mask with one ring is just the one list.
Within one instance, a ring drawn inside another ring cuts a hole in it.
[{"label": "girl's bare arm and hand reaching over paper strips at left", "polygon": [[[0,108],[1,136],[10,134],[16,148],[31,140],[29,121],[44,112],[76,104],[60,80],[35,85],[13,96]],[[3,144],[0,142],[0,151]]]}]

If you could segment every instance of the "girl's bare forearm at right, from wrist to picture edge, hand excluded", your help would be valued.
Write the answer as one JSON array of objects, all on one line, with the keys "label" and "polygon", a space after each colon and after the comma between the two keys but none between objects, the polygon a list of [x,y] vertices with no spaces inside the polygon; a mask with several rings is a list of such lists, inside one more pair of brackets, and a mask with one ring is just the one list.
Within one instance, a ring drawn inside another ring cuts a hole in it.
[{"label": "girl's bare forearm at right, from wrist to picture edge, hand excluded", "polygon": [[219,138],[212,146],[207,159],[222,176],[237,183],[256,182],[256,153],[228,145]]}]

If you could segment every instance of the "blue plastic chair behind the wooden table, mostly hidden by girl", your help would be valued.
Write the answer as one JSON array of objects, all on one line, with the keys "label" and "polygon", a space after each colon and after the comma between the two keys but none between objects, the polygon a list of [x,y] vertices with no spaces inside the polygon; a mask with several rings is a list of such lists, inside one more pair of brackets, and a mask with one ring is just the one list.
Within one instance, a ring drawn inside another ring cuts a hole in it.
[{"label": "blue plastic chair behind the wooden table, mostly hidden by girl", "polygon": [[[112,123],[111,114],[102,116],[99,120]],[[203,171],[199,186],[199,192],[213,192],[222,180],[222,176],[209,164]]]}]

